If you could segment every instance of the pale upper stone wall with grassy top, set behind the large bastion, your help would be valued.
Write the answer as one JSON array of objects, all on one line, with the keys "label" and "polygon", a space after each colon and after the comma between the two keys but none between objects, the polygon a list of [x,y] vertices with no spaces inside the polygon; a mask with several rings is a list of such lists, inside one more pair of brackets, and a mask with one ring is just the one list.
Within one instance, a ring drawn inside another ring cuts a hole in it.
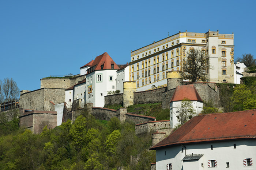
[{"label": "pale upper stone wall with grassy top, set behind the large bastion", "polygon": [[70,79],[41,79],[40,88],[69,88],[71,85]]}]

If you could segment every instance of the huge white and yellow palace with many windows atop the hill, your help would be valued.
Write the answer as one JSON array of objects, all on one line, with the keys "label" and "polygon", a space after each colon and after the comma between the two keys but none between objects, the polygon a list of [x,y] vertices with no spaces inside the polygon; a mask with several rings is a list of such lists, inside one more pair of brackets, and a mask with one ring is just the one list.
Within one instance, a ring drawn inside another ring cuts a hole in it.
[{"label": "huge white and yellow palace with many windows atop the hill", "polygon": [[148,46],[131,51],[129,81],[135,81],[137,91],[151,86],[166,86],[168,71],[182,71],[187,53],[199,49],[209,55],[210,70],[205,70],[207,82],[234,83],[234,35],[179,32]]}]

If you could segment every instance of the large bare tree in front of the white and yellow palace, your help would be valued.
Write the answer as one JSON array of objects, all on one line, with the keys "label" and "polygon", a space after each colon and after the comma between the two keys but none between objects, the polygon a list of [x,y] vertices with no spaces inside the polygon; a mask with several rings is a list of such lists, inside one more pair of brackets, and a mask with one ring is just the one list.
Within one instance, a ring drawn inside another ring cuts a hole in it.
[{"label": "large bare tree in front of the white and yellow palace", "polygon": [[190,50],[187,53],[187,62],[184,64],[183,79],[192,82],[196,82],[197,78],[205,80],[206,71],[210,69],[208,60],[209,56],[206,55],[205,50]]}]

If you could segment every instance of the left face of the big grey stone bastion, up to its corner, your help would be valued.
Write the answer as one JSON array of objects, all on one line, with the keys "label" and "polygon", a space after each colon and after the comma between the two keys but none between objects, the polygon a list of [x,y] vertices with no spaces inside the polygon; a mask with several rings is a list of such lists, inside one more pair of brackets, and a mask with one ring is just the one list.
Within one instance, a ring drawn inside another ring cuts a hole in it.
[{"label": "left face of the big grey stone bastion, up to its corner", "polygon": [[44,110],[44,88],[20,94],[19,107]]}]

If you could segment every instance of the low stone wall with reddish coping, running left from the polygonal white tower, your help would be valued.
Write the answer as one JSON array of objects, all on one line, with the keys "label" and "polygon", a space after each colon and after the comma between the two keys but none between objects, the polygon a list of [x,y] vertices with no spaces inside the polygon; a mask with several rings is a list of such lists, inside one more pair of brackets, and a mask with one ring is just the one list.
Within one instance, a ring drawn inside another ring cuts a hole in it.
[{"label": "low stone wall with reddish coping, running left from the polygonal white tower", "polygon": [[135,134],[145,133],[156,131],[159,129],[169,129],[170,128],[170,120],[159,120],[159,121],[151,121],[145,122],[135,125]]}]

